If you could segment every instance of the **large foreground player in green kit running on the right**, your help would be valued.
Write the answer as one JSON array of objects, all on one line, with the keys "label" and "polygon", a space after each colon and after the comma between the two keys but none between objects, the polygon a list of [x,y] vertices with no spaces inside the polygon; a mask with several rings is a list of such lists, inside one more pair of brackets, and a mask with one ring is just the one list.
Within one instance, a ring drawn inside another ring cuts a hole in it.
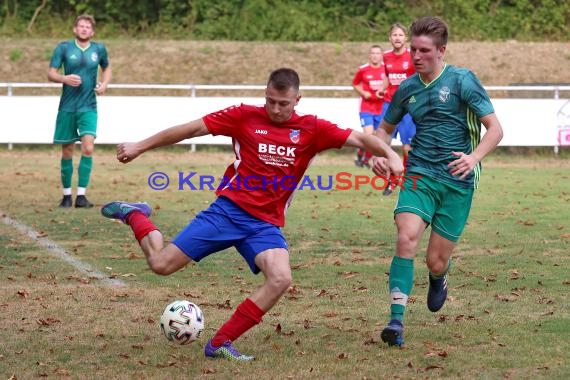
[{"label": "large foreground player in green kit running on the right", "polygon": [[[444,62],[447,25],[440,18],[423,17],[412,23],[410,32],[416,74],[400,84],[377,131],[389,143],[395,125],[407,112],[416,124],[406,170],[407,176],[416,178],[404,182],[394,210],[398,238],[390,266],[391,320],[381,333],[391,346],[404,342],[402,321],[414,282],[413,260],[428,225],[427,305],[432,312],[443,307],[451,253],[469,216],[480,161],[503,137],[477,77]],[[483,138],[481,123],[487,130]],[[374,159],[373,170],[390,174],[384,158]]]}]

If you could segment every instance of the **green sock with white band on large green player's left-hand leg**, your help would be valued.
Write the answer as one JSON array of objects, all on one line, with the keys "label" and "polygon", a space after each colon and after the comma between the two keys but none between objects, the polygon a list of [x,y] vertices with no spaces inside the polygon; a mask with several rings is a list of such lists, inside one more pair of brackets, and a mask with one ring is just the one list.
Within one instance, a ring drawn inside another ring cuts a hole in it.
[{"label": "green sock with white band on large green player's left-hand leg", "polygon": [[414,286],[414,260],[394,256],[390,265],[390,318],[400,322]]}]

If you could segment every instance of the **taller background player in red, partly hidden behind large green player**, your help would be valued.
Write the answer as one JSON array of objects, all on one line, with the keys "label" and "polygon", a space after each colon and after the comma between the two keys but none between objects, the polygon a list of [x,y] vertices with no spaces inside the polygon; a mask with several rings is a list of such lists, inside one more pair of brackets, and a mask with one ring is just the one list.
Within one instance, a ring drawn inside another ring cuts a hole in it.
[{"label": "taller background player in red, partly hidden behind large green player", "polygon": [[[416,70],[412,64],[410,50],[406,47],[407,32],[402,24],[395,23],[390,27],[390,44],[392,49],[384,52],[384,68],[386,70],[386,90],[384,91],[384,104],[382,105],[382,117],[390,106],[392,96],[404,80],[412,76]],[[404,168],[408,161],[408,152],[411,149],[412,138],[416,134],[416,125],[409,114],[396,126],[392,135],[395,138],[400,136],[402,142],[402,154],[404,157]],[[391,186],[386,186],[384,195],[392,193]]]}]

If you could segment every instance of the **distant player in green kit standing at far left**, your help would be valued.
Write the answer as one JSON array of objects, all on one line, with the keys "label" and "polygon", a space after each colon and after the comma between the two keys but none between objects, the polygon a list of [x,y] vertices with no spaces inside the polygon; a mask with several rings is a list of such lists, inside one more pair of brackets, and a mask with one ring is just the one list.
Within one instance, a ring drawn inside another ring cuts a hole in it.
[{"label": "distant player in green kit standing at far left", "polygon": [[[61,183],[63,199],[60,207],[71,207],[71,178],[73,150],[81,141],[81,159],[77,169],[78,184],[75,207],[93,207],[85,197],[91,169],[93,148],[97,137],[97,98],[107,89],[111,80],[111,64],[107,49],[91,41],[95,33],[95,19],[81,15],[73,26],[74,40],[61,42],[55,48],[48,69],[48,79],[62,83],[53,142],[61,144]],[[63,67],[63,75],[59,69]],[[101,67],[101,80],[97,74]]]}]

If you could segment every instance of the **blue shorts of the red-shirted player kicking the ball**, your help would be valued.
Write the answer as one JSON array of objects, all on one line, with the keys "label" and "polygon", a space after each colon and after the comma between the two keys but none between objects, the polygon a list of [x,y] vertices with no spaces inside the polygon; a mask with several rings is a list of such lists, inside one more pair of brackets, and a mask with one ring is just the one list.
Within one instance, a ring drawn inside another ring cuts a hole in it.
[{"label": "blue shorts of the red-shirted player kicking the ball", "polygon": [[235,247],[255,274],[257,254],[272,248],[289,249],[281,229],[252,216],[226,197],[201,211],[173,240],[198,262],[212,253]]}]

